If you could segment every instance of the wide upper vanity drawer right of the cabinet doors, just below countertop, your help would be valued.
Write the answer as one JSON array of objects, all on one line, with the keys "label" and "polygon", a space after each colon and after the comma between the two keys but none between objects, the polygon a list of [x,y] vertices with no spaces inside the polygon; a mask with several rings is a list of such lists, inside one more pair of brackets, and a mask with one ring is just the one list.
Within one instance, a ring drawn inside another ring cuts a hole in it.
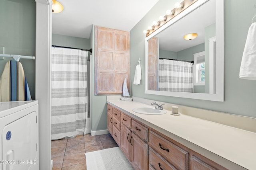
[{"label": "wide upper vanity drawer right of the cabinet doors, just below countertop", "polygon": [[150,131],[150,147],[178,169],[188,170],[189,153],[174,143]]}]

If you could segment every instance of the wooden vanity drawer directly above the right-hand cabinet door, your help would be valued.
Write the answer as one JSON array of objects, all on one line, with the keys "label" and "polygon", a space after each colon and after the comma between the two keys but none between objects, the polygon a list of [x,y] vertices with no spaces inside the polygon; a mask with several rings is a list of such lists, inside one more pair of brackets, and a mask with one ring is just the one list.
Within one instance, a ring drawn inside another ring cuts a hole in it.
[{"label": "wooden vanity drawer directly above the right-hand cabinet door", "polygon": [[144,141],[148,141],[148,128],[132,120],[132,131]]}]

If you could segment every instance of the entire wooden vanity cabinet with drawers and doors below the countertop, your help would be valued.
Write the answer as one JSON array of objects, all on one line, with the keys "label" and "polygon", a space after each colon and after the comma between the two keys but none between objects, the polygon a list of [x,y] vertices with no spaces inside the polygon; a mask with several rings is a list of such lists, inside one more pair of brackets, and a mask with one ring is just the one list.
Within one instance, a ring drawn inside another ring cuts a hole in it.
[{"label": "entire wooden vanity cabinet with drawers and doors below the countertop", "polygon": [[135,170],[227,170],[111,105],[108,131]]}]

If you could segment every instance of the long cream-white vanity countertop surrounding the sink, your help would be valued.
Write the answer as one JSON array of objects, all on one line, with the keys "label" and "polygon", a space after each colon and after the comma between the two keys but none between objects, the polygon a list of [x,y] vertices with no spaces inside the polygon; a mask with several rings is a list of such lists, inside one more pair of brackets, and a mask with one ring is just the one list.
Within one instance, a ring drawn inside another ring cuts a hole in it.
[{"label": "long cream-white vanity countertop surrounding the sink", "polygon": [[[256,169],[256,133],[187,115],[145,115],[132,111],[152,107],[139,102],[107,100],[108,104],[151,123],[244,168]],[[153,107],[154,108],[154,107]]]}]

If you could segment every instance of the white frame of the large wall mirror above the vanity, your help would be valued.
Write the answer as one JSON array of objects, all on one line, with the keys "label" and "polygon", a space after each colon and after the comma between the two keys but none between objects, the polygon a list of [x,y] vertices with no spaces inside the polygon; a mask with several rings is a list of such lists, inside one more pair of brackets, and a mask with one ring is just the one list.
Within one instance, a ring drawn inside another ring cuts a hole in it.
[{"label": "white frame of the large wall mirror above the vanity", "polygon": [[148,90],[148,40],[208,1],[209,0],[198,0],[197,2],[195,2],[194,4],[186,8],[186,10],[178,14],[176,17],[172,18],[172,20],[168,21],[162,27],[160,27],[159,29],[154,31],[152,34],[150,34],[148,37],[146,37],[145,39],[145,94],[155,94],[155,95],[162,95],[162,96],[172,96],[172,97],[180,97],[180,98],[191,98],[191,99],[199,99],[199,100],[224,102],[224,65],[225,65],[224,64],[224,61],[225,61],[224,4],[225,4],[225,0],[216,0],[215,94],[165,92],[165,91]]}]

